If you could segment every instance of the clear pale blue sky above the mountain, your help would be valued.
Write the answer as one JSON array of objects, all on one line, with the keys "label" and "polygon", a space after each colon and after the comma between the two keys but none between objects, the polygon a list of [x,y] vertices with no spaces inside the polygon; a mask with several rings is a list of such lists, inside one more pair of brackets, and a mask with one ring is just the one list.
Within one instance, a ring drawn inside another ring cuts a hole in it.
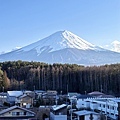
[{"label": "clear pale blue sky above the mountain", "polygon": [[95,45],[120,41],[120,0],[0,0],[0,52],[61,30]]}]

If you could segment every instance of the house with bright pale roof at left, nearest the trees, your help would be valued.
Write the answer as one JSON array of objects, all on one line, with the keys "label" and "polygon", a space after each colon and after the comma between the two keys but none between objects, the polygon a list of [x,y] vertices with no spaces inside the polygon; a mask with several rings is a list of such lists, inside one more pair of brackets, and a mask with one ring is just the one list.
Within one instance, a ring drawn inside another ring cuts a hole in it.
[{"label": "house with bright pale roof at left, nearest the trees", "polygon": [[23,95],[22,91],[7,91],[7,102],[14,104],[18,96]]}]

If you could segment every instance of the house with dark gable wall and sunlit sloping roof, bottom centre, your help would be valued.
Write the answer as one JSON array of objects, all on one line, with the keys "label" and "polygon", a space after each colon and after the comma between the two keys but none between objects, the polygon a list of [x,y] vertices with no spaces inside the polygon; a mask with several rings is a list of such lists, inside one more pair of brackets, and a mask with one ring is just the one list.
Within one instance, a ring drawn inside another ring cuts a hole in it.
[{"label": "house with dark gable wall and sunlit sloping roof, bottom centre", "polygon": [[50,120],[67,120],[66,104],[52,106],[50,112]]}]

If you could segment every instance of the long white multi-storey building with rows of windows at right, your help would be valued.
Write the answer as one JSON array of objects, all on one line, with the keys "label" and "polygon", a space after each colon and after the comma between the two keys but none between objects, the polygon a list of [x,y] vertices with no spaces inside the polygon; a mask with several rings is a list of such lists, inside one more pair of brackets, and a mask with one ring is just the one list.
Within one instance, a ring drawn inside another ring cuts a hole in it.
[{"label": "long white multi-storey building with rows of windows at right", "polygon": [[107,117],[117,119],[118,101],[120,101],[120,99],[117,98],[79,99],[76,107],[78,109],[91,109],[93,111],[102,112]]}]

